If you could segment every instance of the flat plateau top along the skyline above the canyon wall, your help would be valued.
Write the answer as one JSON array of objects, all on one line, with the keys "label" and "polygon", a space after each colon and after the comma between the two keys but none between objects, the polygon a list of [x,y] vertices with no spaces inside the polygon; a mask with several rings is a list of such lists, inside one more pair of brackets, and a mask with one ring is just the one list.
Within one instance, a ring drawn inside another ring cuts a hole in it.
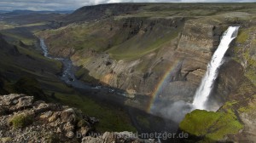
[{"label": "flat plateau top along the skyline above the canyon wall", "polygon": [[254,3],[243,3],[242,5],[241,3],[110,3],[84,6],[72,14],[67,14],[61,21],[70,24],[109,17],[168,17],[174,15],[196,17],[224,14],[230,11],[255,14],[254,5]]}]

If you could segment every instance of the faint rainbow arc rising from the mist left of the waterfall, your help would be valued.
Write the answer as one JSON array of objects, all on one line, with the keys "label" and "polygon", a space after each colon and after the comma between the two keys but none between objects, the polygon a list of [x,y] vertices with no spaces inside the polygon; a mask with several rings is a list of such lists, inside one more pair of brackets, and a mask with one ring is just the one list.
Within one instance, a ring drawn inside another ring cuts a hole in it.
[{"label": "faint rainbow arc rising from the mist left of the waterfall", "polygon": [[166,80],[168,79],[168,77],[170,77],[170,74],[172,73],[172,71],[177,67],[177,65],[180,63],[180,60],[176,60],[175,62],[173,62],[166,70],[165,74],[163,75],[163,77],[160,78],[160,82],[156,84],[156,87],[154,88],[153,93],[150,96],[150,100],[148,102],[148,106],[146,108],[146,111],[148,113],[151,112],[152,106],[154,106],[154,100],[156,99],[156,96],[160,93],[160,91],[163,89],[163,85],[166,82]]}]

